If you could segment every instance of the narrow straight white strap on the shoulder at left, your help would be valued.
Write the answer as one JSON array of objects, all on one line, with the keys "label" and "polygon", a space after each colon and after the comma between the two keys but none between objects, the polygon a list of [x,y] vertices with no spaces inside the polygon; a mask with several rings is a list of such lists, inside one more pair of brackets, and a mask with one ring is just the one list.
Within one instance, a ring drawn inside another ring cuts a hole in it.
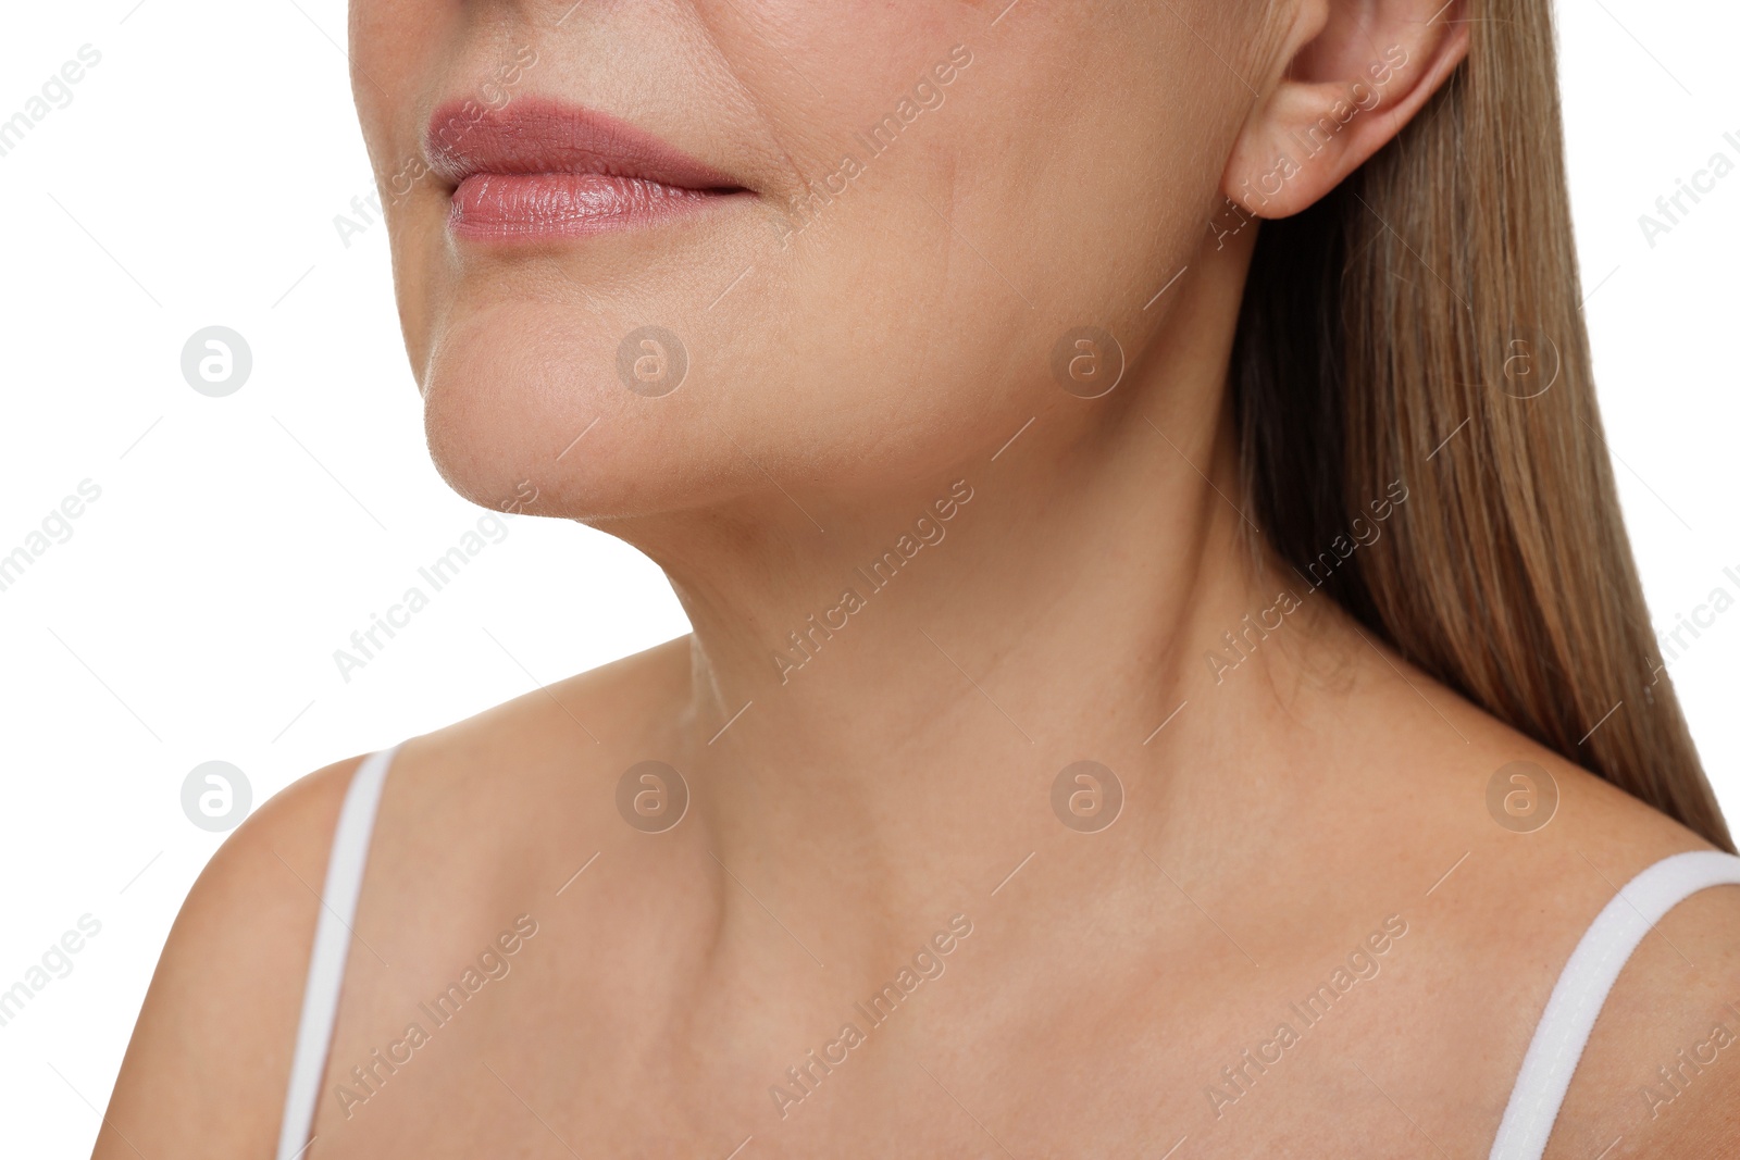
[{"label": "narrow straight white strap on the shoulder at left", "polygon": [[374,809],[381,803],[381,784],[393,750],[364,758],[350,776],[345,805],[332,833],[325,889],[320,892],[320,918],[315,944],[308,953],[308,986],[303,990],[303,1019],[296,1028],[296,1056],[291,1059],[291,1083],[284,1096],[284,1122],[278,1127],[278,1160],[296,1160],[313,1143],[315,1101],[332,1045],[338,1021],[338,993],[345,984],[345,958],[350,951],[362,871],[369,863],[369,837],[374,833]]}]

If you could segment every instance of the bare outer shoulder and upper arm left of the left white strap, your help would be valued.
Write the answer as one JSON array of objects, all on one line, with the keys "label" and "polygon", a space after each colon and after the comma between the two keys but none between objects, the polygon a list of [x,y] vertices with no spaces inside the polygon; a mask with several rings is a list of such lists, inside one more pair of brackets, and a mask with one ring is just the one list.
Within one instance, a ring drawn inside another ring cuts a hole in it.
[{"label": "bare outer shoulder and upper arm left of the left white strap", "polygon": [[193,883],[146,991],[94,1160],[136,1150],[271,1153],[332,828],[358,762],[327,765],[275,795]]}]

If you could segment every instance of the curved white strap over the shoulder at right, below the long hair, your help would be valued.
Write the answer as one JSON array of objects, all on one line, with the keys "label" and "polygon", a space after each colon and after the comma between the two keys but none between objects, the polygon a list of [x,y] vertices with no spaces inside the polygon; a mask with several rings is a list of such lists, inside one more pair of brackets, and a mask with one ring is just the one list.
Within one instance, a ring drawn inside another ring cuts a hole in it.
[{"label": "curved white strap over the shoulder at right, below the long hair", "polygon": [[1740,857],[1688,850],[1650,866],[1601,910],[1583,932],[1540,1016],[1489,1160],[1540,1160],[1571,1087],[1601,1005],[1643,936],[1686,897],[1714,885],[1740,885]]}]

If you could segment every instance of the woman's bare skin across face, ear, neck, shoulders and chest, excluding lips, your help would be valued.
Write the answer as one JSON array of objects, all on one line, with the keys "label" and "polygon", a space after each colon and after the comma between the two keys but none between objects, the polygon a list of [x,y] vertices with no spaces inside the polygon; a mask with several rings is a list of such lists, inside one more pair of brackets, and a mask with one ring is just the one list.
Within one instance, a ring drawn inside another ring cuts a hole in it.
[{"label": "woman's bare skin across face, ear, neck, shoulders and chest, excluding lips", "polygon": [[[358,103],[383,172],[416,148],[430,77],[569,5],[449,7],[470,19],[357,5]],[[790,191],[792,167],[818,172],[840,136],[825,120],[837,110],[804,120],[807,92],[778,99],[778,78],[797,87],[790,68],[840,101],[868,94],[873,113],[908,57],[974,40],[981,90],[957,90],[957,120],[920,122],[931,136],[879,158],[882,195],[842,197],[778,254],[766,221],[719,214],[656,240],[501,257],[447,245],[444,191],[390,210],[449,482],[494,508],[532,480],[527,511],[652,557],[694,633],[402,746],[308,1155],[1484,1155],[1589,922],[1644,866],[1707,847],[1253,550],[1225,369],[1256,226],[1202,235],[1216,200],[1359,75],[1368,38],[1406,42],[1411,70],[1270,214],[1382,148],[1465,38],[1429,19],[1437,3],[1404,0],[1232,5],[1237,37],[1185,3],[1188,28],[1124,14],[1091,43],[1072,31],[1084,12],[1039,5],[995,28],[983,5],[854,5],[858,24],[764,5],[790,19],[760,37],[740,35],[734,7],[583,7],[564,23],[581,30],[571,52],[539,40],[539,77],[600,103],[642,94],[646,120],[717,146],[703,160],[764,200]],[[633,54],[581,52],[628,43],[611,21],[658,24],[705,83],[672,94]],[[1190,28],[1249,52],[1234,61],[1251,80]],[[898,61],[828,40],[840,30]],[[780,56],[806,35],[807,52]],[[583,68],[600,59],[611,68]],[[705,125],[659,123],[699,92],[727,94]],[[1147,125],[1154,148],[1107,160],[1081,137],[1101,122],[1141,141]],[[992,163],[1009,153],[1023,163]],[[974,184],[992,172],[1016,176]],[[715,299],[745,263],[764,263],[759,277]],[[649,315],[686,318],[706,355],[656,410],[593,374],[619,323]],[[1126,381],[1093,402],[1047,372],[1084,317],[1131,336]],[[574,381],[527,383],[525,367]],[[593,417],[585,454],[557,466]],[[943,497],[947,536],[800,668],[771,659]],[[1432,518],[1390,499],[1390,520]],[[1227,664],[1223,633],[1282,590],[1298,607]],[[644,760],[689,786],[663,833],[616,807]],[[1053,812],[1077,760],[1126,793],[1098,833]],[[1489,779],[1517,760],[1561,795],[1533,833],[1488,812]],[[353,769],[294,784],[212,859],[164,951],[99,1160],[270,1155]],[[510,970],[435,1026],[421,1005],[512,930]],[[865,1019],[854,1005],[945,930],[941,974],[886,1023]],[[1291,1012],[1375,937],[1375,974],[1317,1023]],[[1547,1155],[1587,1160],[1615,1139],[1608,1160],[1731,1155],[1728,1052],[1665,1106],[1639,1096],[1712,1023],[1740,1026],[1724,1003],[1740,1003],[1733,887],[1681,904],[1627,965]],[[1228,1087],[1223,1068],[1249,1068],[1242,1052],[1282,1021],[1298,1042]],[[411,1023],[426,1042],[358,1083],[351,1070]],[[863,1042],[797,1085],[788,1068],[826,1054],[844,1023]]]}]

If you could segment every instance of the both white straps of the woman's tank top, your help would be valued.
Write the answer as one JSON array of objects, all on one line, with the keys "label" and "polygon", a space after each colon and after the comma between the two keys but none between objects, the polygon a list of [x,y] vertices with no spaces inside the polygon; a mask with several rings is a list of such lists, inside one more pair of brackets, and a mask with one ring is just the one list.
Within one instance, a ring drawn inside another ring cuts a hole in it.
[{"label": "both white straps of the woman's tank top", "polygon": [[[339,809],[315,944],[308,955],[303,1016],[296,1028],[296,1056],[291,1061],[291,1083],[278,1129],[278,1160],[298,1160],[315,1143],[310,1132],[338,1021],[350,927],[357,918],[374,810],[392,760],[393,750],[369,755],[351,774]],[[1716,850],[1672,854],[1641,871],[1596,915],[1564,963],[1535,1026],[1535,1038],[1522,1056],[1522,1070],[1510,1089],[1510,1103],[1488,1160],[1540,1160],[1596,1016],[1625,960],[1667,911],[1714,885],[1740,885],[1740,857]]]}]

